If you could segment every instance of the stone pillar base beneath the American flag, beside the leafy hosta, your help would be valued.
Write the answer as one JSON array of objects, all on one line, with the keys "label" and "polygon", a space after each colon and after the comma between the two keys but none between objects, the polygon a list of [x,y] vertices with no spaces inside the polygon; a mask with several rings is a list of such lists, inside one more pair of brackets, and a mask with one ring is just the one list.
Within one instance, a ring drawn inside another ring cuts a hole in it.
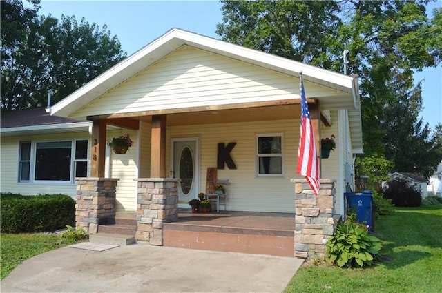
[{"label": "stone pillar base beneath the American flag, beside the leafy hosta", "polygon": [[321,179],[316,196],[305,179],[292,179],[295,183],[295,247],[296,257],[307,259],[324,256],[327,239],[334,234],[335,189],[334,181]]}]

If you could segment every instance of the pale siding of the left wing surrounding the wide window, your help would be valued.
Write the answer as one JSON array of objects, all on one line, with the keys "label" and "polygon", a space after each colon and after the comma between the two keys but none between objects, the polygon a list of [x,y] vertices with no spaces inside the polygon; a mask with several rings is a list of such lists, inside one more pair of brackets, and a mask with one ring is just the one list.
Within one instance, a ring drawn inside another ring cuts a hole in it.
[{"label": "pale siding of the left wing surrounding the wide window", "polygon": [[[25,195],[35,194],[77,194],[77,183],[19,183],[19,143],[20,141],[48,140],[57,141],[64,139],[88,139],[88,133],[38,135],[33,137],[2,137],[1,138],[1,192],[12,192]],[[89,139],[88,139],[89,140]],[[90,145],[90,141],[88,143]],[[90,148],[88,148],[88,158]],[[90,174],[90,160],[88,160],[88,175]]]}]

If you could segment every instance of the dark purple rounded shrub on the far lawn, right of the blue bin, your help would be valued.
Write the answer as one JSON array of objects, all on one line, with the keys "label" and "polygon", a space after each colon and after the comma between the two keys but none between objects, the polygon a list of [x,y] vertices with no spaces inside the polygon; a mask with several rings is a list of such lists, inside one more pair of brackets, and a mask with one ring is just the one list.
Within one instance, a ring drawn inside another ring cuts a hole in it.
[{"label": "dark purple rounded shrub on the far lawn, right of the blue bin", "polygon": [[392,199],[392,203],[396,207],[419,207],[422,201],[421,192],[415,190],[402,179],[388,182],[388,187],[384,190],[384,197]]}]

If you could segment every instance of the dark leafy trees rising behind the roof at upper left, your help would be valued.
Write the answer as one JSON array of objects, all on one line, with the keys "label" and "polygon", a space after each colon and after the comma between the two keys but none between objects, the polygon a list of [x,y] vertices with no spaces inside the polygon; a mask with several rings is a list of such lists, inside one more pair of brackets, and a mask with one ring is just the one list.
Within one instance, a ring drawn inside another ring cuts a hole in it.
[{"label": "dark leafy trees rising behind the roof at upper left", "polygon": [[1,3],[1,110],[63,99],[121,61],[126,54],[106,26],[75,17],[38,17],[38,3]]}]

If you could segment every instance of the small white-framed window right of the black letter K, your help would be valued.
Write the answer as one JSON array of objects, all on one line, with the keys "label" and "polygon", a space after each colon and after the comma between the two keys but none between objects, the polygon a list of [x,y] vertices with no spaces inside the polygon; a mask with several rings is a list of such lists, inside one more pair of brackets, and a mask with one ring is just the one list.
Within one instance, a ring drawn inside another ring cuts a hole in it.
[{"label": "small white-framed window right of the black letter K", "polygon": [[282,176],[282,134],[258,134],[256,150],[257,176]]}]

